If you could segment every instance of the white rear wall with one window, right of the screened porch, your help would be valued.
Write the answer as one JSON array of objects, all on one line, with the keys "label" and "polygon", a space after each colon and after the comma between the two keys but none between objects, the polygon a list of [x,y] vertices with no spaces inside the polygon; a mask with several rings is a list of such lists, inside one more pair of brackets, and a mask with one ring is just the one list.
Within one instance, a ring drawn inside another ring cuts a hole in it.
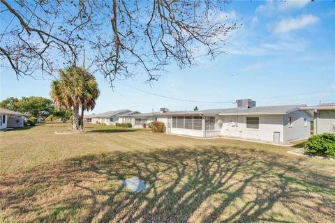
[{"label": "white rear wall with one window, right of the screened porch", "polygon": [[[259,117],[259,128],[246,128],[246,117]],[[221,134],[228,137],[273,141],[274,132],[280,132],[283,142],[283,115],[223,116]]]}]

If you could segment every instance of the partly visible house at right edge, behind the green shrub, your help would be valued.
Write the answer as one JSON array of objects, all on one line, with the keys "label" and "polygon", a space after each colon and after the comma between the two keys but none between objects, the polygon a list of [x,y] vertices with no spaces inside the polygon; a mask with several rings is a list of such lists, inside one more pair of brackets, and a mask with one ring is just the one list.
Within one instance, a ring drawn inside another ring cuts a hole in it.
[{"label": "partly visible house at right edge, behind the green shrub", "polygon": [[314,112],[314,134],[335,132],[335,103],[301,107]]}]

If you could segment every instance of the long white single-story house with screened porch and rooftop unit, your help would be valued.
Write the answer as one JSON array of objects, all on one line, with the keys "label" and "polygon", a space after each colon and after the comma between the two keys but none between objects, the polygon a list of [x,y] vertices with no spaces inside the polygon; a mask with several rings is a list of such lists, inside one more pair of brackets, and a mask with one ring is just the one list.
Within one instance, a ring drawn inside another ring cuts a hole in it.
[{"label": "long white single-story house with screened porch and rooftop unit", "polygon": [[[132,116],[133,128],[142,123],[161,121],[166,132],[192,137],[239,137],[283,143],[304,139],[311,134],[312,113],[301,110],[306,105],[256,107],[250,99],[237,100],[237,107],[202,111],[161,112]],[[119,120],[121,121],[121,120]]]}]

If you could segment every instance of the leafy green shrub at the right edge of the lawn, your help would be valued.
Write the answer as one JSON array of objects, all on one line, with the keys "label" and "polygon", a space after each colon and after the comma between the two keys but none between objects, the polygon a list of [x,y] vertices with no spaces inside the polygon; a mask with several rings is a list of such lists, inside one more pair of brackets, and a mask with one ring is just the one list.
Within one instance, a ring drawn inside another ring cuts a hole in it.
[{"label": "leafy green shrub at the right edge of the lawn", "polygon": [[308,139],[305,151],[313,155],[335,157],[335,134],[313,135]]}]

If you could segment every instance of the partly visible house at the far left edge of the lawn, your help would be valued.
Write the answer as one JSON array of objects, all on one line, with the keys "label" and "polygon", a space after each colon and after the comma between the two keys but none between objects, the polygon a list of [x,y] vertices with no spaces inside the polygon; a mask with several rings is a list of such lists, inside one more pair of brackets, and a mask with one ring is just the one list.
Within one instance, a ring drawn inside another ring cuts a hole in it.
[{"label": "partly visible house at the far left edge of the lawn", "polygon": [[24,125],[23,114],[0,108],[0,129],[20,128]]}]

